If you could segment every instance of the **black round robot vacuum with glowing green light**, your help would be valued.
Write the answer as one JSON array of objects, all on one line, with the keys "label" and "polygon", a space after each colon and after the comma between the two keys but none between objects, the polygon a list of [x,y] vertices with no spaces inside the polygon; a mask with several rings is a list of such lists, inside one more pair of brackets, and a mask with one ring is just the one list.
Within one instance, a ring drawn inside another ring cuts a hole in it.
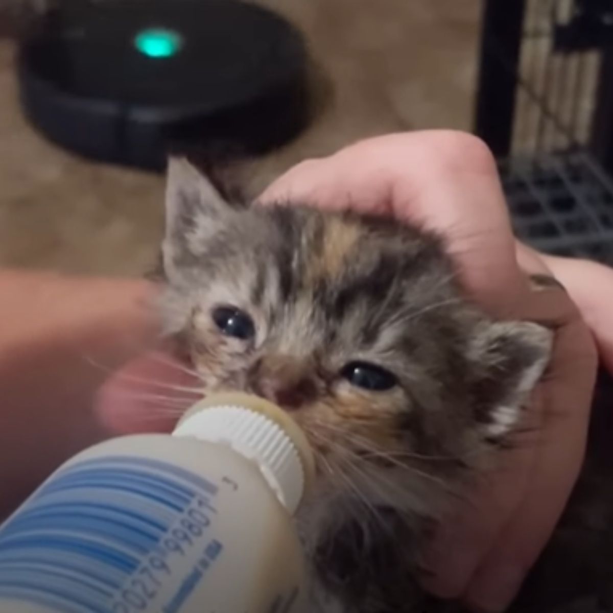
[{"label": "black round robot vacuum with glowing green light", "polygon": [[75,0],[18,49],[29,121],[88,158],[159,170],[169,148],[257,153],[307,123],[302,38],[237,0]]}]

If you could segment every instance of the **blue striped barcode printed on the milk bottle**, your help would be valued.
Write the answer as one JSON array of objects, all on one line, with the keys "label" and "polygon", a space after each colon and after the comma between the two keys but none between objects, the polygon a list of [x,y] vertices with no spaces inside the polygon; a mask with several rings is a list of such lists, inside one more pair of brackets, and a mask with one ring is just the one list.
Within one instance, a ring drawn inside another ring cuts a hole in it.
[{"label": "blue striped barcode printed on the milk bottle", "polygon": [[87,460],[61,471],[0,530],[0,601],[58,613],[145,611],[192,550],[205,570],[214,484],[140,457]]}]

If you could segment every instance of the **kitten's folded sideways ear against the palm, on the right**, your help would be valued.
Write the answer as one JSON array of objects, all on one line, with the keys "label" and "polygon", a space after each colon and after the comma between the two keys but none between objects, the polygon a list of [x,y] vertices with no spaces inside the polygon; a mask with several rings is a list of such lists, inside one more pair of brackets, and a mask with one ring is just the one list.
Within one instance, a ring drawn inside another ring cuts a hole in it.
[{"label": "kitten's folded sideways ear against the palm, on the right", "polygon": [[473,387],[475,416],[486,438],[501,438],[517,424],[549,364],[552,343],[550,330],[530,322],[479,326],[470,359],[479,373]]}]

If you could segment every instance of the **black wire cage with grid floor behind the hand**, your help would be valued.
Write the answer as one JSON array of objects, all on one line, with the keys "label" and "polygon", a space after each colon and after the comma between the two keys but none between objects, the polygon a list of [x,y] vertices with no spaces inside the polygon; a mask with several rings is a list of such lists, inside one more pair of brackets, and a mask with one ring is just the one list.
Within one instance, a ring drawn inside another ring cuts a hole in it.
[{"label": "black wire cage with grid floor behind the hand", "polygon": [[613,0],[486,0],[475,131],[520,238],[613,264]]}]

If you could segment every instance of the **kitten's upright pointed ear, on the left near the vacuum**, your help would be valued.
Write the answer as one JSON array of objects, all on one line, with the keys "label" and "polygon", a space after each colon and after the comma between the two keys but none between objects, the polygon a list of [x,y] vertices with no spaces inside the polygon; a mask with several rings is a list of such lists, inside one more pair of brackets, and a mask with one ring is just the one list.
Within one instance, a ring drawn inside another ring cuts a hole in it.
[{"label": "kitten's upright pointed ear, on the left near the vacuum", "polygon": [[166,184],[164,268],[198,257],[234,210],[219,191],[185,158],[169,160]]}]

